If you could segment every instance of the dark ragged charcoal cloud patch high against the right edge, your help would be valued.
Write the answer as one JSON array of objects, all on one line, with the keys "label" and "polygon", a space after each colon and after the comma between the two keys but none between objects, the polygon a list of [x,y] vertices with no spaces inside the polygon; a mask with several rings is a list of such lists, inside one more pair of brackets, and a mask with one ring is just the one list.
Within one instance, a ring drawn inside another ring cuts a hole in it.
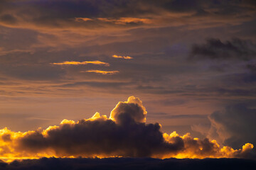
[{"label": "dark ragged charcoal cloud patch high against the right edge", "polygon": [[235,38],[222,42],[210,38],[203,45],[193,45],[189,59],[192,60],[250,60],[256,57],[256,45],[250,40]]}]

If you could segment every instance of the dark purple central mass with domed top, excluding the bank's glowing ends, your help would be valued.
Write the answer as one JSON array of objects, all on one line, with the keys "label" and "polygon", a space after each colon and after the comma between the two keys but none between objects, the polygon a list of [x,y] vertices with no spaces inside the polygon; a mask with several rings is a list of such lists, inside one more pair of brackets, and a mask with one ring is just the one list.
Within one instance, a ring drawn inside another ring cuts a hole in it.
[{"label": "dark purple central mass with domed top, excluding the bank's glowing ends", "polygon": [[139,98],[130,97],[127,102],[117,104],[110,119],[96,113],[91,120],[80,120],[75,124],[64,121],[60,128],[47,130],[47,135],[36,131],[22,137],[19,148],[35,153],[54,149],[60,157],[151,157],[183,148],[180,137],[176,137],[172,144],[164,142],[159,123],[146,125],[145,116],[146,110]]}]

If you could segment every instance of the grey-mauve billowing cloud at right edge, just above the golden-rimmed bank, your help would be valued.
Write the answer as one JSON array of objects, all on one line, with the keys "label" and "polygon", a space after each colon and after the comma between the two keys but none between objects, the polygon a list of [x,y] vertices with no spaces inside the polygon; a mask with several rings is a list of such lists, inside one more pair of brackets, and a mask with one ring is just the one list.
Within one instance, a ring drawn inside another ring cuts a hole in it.
[{"label": "grey-mauve billowing cloud at right edge, just above the golden-rimmed bank", "polygon": [[227,106],[225,111],[215,111],[209,116],[211,128],[225,145],[240,147],[243,142],[256,144],[256,109],[243,104]]}]

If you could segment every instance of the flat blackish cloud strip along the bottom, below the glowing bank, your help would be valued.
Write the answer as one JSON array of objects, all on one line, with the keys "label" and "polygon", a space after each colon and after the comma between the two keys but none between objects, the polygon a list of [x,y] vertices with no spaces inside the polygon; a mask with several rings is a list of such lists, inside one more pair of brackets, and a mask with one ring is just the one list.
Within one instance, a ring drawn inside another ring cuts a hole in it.
[{"label": "flat blackish cloud strip along the bottom, below the glowing bank", "polygon": [[250,159],[151,159],[151,158],[41,158],[26,159],[21,162],[14,161],[10,164],[0,161],[3,170],[21,169],[55,169],[55,170],[75,170],[75,169],[247,169],[254,170],[255,160]]}]

